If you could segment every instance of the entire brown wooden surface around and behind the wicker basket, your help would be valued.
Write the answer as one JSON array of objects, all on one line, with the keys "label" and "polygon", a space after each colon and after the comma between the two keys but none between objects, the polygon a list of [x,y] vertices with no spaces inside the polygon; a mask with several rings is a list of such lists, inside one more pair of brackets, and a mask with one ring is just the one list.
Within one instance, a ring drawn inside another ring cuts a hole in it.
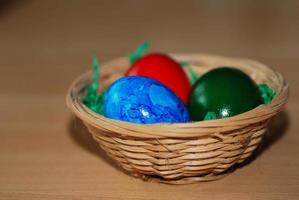
[{"label": "entire brown wooden surface around and behind the wicker basket", "polygon": [[[0,1],[0,199],[298,199],[298,1]],[[290,84],[252,161],[228,177],[171,186],[122,173],[65,106],[102,61],[148,39],[162,52],[260,60]]]}]

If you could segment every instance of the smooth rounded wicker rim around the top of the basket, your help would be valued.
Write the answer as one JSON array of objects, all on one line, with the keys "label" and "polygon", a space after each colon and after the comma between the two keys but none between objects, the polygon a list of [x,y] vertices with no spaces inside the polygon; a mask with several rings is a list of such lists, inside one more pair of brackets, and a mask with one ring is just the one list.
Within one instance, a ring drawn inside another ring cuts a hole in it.
[{"label": "smooth rounded wicker rim around the top of the basket", "polygon": [[[87,108],[82,103],[82,101],[79,99],[79,94],[86,87],[86,85],[90,83],[92,77],[92,71],[88,71],[80,75],[71,84],[66,96],[67,106],[84,123],[87,123],[94,128],[101,129],[104,132],[113,132],[113,134],[140,138],[189,138],[207,136],[217,132],[228,132],[253,123],[267,121],[277,114],[287,102],[289,90],[287,82],[283,79],[280,73],[272,70],[260,62],[247,58],[234,58],[201,53],[169,55],[178,60],[184,57],[201,57],[202,59],[230,59],[245,63],[254,63],[255,65],[258,65],[260,69],[267,71],[267,73],[272,73],[279,84],[279,88],[276,91],[276,96],[270,104],[260,105],[252,110],[232,117],[189,123],[135,124],[131,122],[110,119],[99,115]],[[101,69],[107,68],[112,63],[123,61],[125,59],[127,58],[120,57],[103,63]]]}]

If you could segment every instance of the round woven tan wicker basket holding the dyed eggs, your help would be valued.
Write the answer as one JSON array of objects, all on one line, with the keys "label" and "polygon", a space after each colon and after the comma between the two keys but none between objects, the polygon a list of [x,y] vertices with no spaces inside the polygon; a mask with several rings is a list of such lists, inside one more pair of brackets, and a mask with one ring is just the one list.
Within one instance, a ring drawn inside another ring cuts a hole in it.
[{"label": "round woven tan wicker basket holding the dyed eggs", "polygon": [[[243,162],[256,149],[267,124],[285,105],[288,85],[283,77],[265,65],[248,60],[206,54],[171,54],[187,62],[198,74],[232,66],[267,83],[276,91],[268,105],[229,118],[192,123],[143,125],[117,121],[94,113],[81,101],[92,81],[92,72],[71,85],[67,105],[79,117],[101,148],[125,171],[145,180],[187,184],[219,179],[236,163]],[[128,69],[127,58],[101,66],[101,87],[109,86]]]}]

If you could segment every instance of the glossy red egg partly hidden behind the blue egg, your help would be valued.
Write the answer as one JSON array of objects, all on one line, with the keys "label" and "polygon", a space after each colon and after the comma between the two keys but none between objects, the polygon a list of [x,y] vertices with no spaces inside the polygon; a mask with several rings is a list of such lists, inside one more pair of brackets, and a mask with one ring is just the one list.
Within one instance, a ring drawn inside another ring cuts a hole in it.
[{"label": "glossy red egg partly hidden behind the blue egg", "polygon": [[184,70],[165,54],[151,53],[138,59],[126,72],[126,76],[145,76],[160,81],[172,90],[185,104],[191,85]]}]

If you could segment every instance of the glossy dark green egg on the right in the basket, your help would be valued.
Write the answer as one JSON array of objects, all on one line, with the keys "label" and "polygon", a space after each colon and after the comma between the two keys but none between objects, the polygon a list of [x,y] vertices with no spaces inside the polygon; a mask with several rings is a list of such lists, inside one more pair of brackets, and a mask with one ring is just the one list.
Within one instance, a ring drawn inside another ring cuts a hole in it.
[{"label": "glossy dark green egg on the right in the basket", "polygon": [[219,119],[249,111],[262,103],[258,86],[247,74],[221,67],[197,80],[188,107],[192,120],[199,121],[208,112]]}]

